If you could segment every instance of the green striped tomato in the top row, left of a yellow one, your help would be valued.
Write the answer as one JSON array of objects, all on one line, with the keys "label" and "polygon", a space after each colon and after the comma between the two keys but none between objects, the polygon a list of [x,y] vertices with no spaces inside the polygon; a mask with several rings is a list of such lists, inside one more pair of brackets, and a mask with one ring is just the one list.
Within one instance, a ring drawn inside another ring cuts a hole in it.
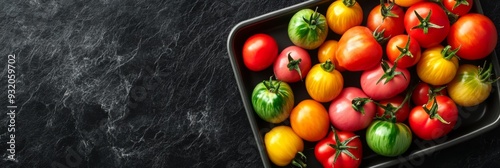
[{"label": "green striped tomato in the top row, left of a yellow one", "polygon": [[328,30],[323,14],[311,9],[302,9],[290,19],[288,37],[296,46],[313,50],[323,44]]}]

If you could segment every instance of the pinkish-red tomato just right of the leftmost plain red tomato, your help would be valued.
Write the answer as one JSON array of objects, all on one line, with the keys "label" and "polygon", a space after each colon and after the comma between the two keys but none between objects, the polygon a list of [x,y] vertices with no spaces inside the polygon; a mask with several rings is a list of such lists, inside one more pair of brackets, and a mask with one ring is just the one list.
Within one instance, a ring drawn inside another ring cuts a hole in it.
[{"label": "pinkish-red tomato just right of the leftmost plain red tomato", "polygon": [[304,79],[311,66],[311,57],[305,49],[289,46],[278,55],[273,69],[276,79],[293,83]]}]

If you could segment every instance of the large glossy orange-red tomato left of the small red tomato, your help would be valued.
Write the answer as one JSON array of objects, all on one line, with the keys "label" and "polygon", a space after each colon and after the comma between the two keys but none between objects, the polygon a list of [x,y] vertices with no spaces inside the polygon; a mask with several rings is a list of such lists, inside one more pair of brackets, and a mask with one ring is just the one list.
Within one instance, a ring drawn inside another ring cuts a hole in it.
[{"label": "large glossy orange-red tomato left of the small red tomato", "polygon": [[373,37],[372,31],[364,26],[355,26],[340,37],[335,56],[346,70],[363,71],[379,65],[382,54],[382,46]]}]

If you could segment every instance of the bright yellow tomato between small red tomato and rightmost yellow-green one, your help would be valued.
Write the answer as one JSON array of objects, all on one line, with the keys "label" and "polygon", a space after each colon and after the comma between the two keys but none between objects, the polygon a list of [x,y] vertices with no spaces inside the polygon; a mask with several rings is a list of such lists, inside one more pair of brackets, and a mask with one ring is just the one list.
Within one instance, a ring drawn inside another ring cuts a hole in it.
[{"label": "bright yellow tomato between small red tomato and rightmost yellow-green one", "polygon": [[453,80],[458,69],[456,52],[450,46],[441,45],[424,50],[416,68],[420,80],[434,86]]}]

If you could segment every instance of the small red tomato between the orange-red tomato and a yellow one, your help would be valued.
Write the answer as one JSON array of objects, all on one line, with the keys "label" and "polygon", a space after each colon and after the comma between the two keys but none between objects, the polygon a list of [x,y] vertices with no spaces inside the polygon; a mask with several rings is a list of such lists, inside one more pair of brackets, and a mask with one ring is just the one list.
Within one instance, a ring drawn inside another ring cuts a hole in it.
[{"label": "small red tomato between the orange-red tomato and a yellow one", "polygon": [[420,61],[420,45],[409,35],[393,36],[387,42],[385,51],[390,62],[397,60],[396,66],[399,68],[408,68]]}]

